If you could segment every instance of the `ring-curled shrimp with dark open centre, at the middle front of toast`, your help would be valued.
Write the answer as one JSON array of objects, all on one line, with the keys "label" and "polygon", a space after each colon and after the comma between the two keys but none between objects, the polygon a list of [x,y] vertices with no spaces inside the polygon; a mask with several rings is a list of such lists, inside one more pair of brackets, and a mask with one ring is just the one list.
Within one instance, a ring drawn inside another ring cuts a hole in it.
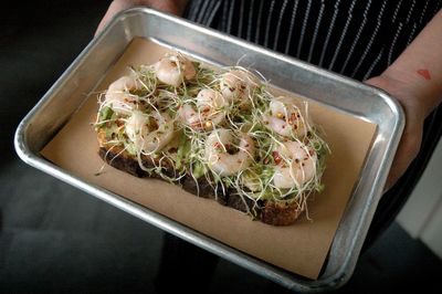
[{"label": "ring-curled shrimp with dark open centre, at the middle front of toast", "polygon": [[[238,143],[236,143],[238,141]],[[204,158],[209,168],[219,176],[232,176],[253,161],[255,144],[245,133],[219,128],[206,140]]]}]

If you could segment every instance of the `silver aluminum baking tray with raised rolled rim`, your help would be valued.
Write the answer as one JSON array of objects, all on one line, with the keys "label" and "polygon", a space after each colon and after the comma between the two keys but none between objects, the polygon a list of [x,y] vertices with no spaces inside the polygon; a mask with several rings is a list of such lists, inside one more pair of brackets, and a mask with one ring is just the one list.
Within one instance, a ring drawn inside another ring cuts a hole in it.
[{"label": "silver aluminum baking tray with raised rolled rim", "polygon": [[[273,85],[376,124],[375,138],[360,174],[364,181],[358,181],[354,189],[317,280],[304,279],[242,253],[106,189],[90,185],[40,156],[40,150],[81,106],[85,95],[77,95],[78,99],[69,97],[74,92],[91,93],[136,36],[155,40],[212,64],[235,64],[245,56]],[[343,285],[354,272],[403,126],[404,116],[399,104],[380,90],[182,19],[147,8],[135,8],[119,13],[92,40],[21,122],[14,144],[17,153],[27,164],[148,223],[288,288],[322,292]]]}]

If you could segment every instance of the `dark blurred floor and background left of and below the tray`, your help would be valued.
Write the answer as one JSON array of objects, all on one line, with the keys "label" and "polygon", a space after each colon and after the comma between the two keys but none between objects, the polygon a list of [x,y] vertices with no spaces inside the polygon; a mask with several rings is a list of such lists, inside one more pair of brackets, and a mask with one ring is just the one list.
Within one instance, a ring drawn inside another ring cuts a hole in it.
[{"label": "dark blurred floor and background left of and below the tray", "polygon": [[[0,293],[160,293],[170,287],[290,293],[27,166],[15,155],[18,124],[92,40],[109,2],[20,1],[0,8]],[[440,273],[441,261],[393,223],[359,259],[339,293],[423,287],[439,293]]]}]

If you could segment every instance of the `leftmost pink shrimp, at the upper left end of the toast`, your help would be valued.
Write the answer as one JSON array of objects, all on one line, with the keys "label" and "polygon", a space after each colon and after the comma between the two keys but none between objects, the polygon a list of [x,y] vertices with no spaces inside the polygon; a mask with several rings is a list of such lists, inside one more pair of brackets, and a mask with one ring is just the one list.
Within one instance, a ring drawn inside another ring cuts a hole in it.
[{"label": "leftmost pink shrimp, at the upper left end of the toast", "polygon": [[122,76],[107,88],[104,106],[109,106],[116,113],[129,115],[133,109],[140,106],[139,97],[133,92],[141,88],[143,84],[137,77]]}]

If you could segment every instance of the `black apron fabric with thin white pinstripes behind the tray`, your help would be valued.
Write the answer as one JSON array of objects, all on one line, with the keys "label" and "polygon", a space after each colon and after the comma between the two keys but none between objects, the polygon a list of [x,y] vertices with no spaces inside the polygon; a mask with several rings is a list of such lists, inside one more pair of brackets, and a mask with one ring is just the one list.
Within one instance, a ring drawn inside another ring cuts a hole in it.
[{"label": "black apron fabric with thin white pinstripes behind the tray", "polygon": [[442,0],[192,0],[187,18],[360,81],[380,74]]}]

